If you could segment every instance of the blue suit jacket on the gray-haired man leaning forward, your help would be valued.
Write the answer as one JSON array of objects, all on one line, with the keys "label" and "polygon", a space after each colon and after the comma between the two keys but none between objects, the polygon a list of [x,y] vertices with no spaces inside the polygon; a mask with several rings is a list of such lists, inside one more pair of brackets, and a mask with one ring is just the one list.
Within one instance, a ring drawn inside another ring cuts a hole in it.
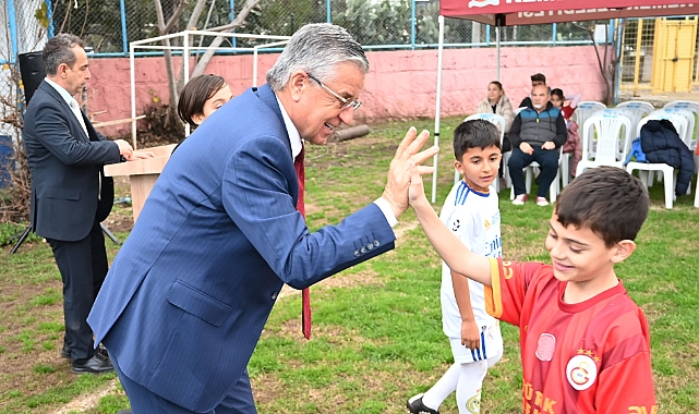
[{"label": "blue suit jacket on the gray-haired man leaning forward", "polygon": [[168,161],[87,319],[123,373],[191,411],[243,373],[284,283],[306,288],[394,247],[371,204],[310,233],[291,147],[264,85],[206,120]]}]

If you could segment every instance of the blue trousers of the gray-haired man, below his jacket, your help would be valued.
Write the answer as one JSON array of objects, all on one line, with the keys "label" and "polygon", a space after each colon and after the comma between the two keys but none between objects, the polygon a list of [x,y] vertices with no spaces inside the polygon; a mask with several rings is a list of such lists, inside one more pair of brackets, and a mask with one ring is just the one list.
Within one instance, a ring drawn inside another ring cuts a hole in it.
[{"label": "blue trousers of the gray-haired man, below his jacket", "polygon": [[[192,414],[193,411],[189,411],[180,405],[177,405],[162,397],[153,393],[147,388],[143,387],[138,382],[133,381],[131,378],[126,377],[121,367],[119,366],[119,361],[115,357],[113,354],[110,354],[111,363],[115,364],[115,369],[119,376],[119,381],[129,397],[129,402],[131,402],[131,410],[133,414]],[[255,401],[252,397],[252,389],[250,388],[250,377],[248,376],[248,369],[243,372],[243,375],[236,382],[236,387],[224,398],[220,404],[218,404],[213,411],[209,411],[205,414],[257,414],[255,409]]]}]

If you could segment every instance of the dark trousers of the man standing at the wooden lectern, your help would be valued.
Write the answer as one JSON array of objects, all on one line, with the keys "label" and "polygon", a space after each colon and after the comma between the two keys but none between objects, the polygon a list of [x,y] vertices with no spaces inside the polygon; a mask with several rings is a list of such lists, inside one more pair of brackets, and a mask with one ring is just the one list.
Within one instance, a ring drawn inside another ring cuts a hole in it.
[{"label": "dark trousers of the man standing at the wooden lectern", "polygon": [[71,360],[86,360],[95,354],[93,331],[87,315],[107,276],[107,251],[99,222],[89,234],[76,242],[47,240],[63,280],[63,318],[65,344]]}]

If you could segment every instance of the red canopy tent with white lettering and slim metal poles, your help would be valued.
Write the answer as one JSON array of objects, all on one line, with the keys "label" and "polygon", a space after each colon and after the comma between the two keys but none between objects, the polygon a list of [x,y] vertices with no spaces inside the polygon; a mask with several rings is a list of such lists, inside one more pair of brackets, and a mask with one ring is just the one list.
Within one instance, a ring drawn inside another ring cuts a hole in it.
[{"label": "red canopy tent with white lettering and slim metal poles", "polygon": [[[584,3],[587,8],[580,9],[580,1],[577,0],[441,0],[435,145],[439,144],[444,17],[468,19],[497,27],[497,77],[499,78],[499,27],[502,26],[699,14],[699,3],[677,3],[672,0],[587,0]],[[434,157],[434,167],[432,203],[436,202],[437,156]]]}]

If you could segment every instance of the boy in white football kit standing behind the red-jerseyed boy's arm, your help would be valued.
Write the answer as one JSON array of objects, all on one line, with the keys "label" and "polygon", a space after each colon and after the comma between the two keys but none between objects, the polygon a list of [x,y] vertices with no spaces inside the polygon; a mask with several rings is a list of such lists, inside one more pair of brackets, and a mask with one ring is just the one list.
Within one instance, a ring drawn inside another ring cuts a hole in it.
[{"label": "boy in white football kit standing behind the red-jerseyed boy's arm", "polygon": [[[439,218],[473,253],[502,257],[497,180],[501,142],[497,127],[483,120],[461,123],[454,131],[455,167],[463,179],[454,185]],[[442,265],[442,325],[451,343],[454,365],[424,394],[408,400],[410,413],[438,414],[454,391],[459,414],[479,413],[487,368],[503,355],[499,321],[485,312],[483,284]]]}]

